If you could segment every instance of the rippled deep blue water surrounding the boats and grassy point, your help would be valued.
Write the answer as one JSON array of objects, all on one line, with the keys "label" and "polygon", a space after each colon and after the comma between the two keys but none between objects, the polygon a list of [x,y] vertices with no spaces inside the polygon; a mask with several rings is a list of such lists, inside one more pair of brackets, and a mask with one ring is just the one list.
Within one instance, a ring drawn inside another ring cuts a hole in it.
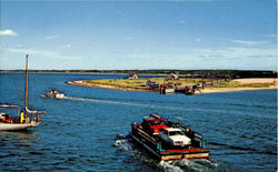
[{"label": "rippled deep blue water surrounding the boats and grassy point", "polygon": [[[0,103],[22,104],[23,74],[0,73]],[[0,171],[276,171],[277,90],[160,95],[66,84],[125,75],[30,74],[30,104],[47,110],[28,132],[0,132]],[[64,100],[41,98],[49,88]],[[158,162],[128,138],[158,113],[201,132],[210,160]]]}]

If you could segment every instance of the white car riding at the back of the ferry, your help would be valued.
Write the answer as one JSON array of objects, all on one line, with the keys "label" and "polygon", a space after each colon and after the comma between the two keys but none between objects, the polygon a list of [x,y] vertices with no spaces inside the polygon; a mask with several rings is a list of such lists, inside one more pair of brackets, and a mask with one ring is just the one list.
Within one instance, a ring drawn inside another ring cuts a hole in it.
[{"label": "white car riding at the back of the ferry", "polygon": [[168,144],[172,146],[185,146],[191,144],[191,139],[189,139],[180,129],[169,128],[163,129],[160,133],[160,138]]}]

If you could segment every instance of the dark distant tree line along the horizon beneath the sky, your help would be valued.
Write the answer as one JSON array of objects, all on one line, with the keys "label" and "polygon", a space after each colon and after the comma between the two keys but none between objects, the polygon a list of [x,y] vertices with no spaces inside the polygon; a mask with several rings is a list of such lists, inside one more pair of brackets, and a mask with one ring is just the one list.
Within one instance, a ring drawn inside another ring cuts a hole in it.
[{"label": "dark distant tree line along the horizon beneath the sky", "polygon": [[[0,70],[0,72],[24,72],[24,70]],[[277,71],[259,70],[29,70],[37,73],[138,73],[138,74],[170,74],[196,78],[277,78]]]}]

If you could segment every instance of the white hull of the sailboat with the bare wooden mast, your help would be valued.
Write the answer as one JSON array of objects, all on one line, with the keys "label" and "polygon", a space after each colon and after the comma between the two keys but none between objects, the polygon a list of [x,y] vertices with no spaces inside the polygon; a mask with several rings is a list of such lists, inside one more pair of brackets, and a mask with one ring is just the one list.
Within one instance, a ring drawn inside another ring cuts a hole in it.
[{"label": "white hull of the sailboat with the bare wooden mast", "polygon": [[30,122],[30,123],[3,123],[0,122],[0,131],[20,131],[27,130],[28,128],[36,128],[41,122]]}]

